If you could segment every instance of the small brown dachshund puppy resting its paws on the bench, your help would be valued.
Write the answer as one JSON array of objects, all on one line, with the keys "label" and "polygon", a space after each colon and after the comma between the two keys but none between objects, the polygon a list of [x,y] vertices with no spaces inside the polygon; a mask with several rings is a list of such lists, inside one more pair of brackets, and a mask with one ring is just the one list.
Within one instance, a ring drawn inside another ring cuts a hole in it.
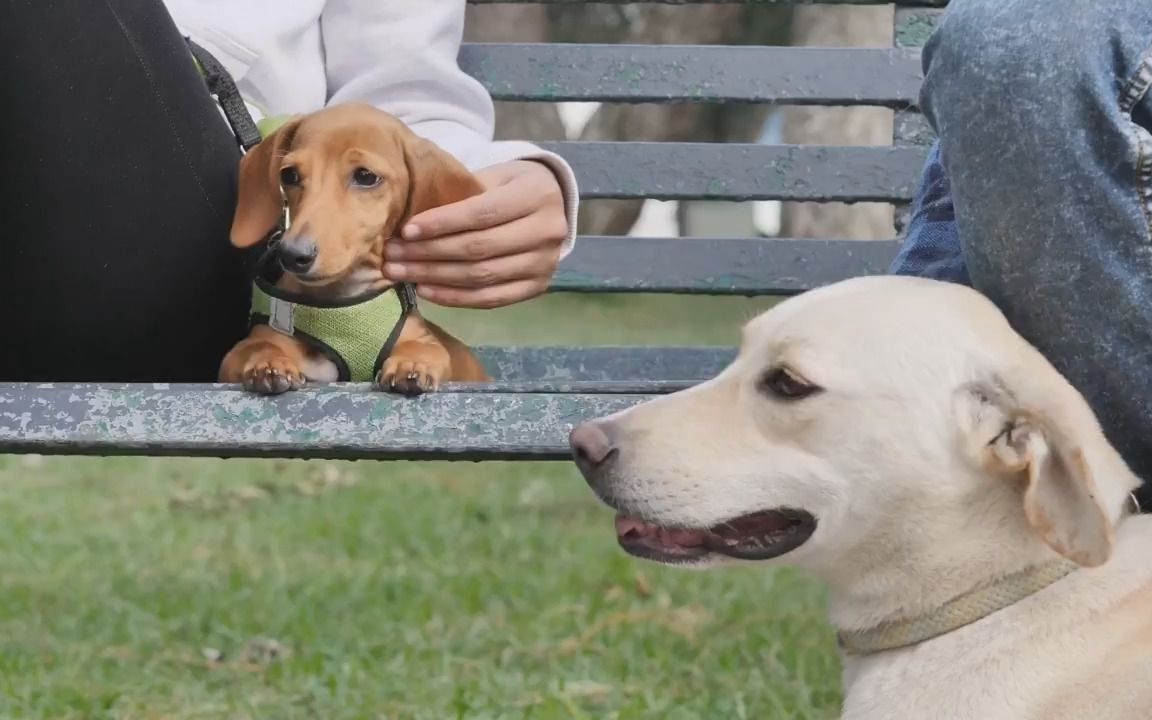
[{"label": "small brown dachshund puppy resting its paws on the bench", "polygon": [[[369,105],[335,105],[289,120],[244,156],[232,243],[260,243],[285,213],[290,222],[270,251],[283,268],[274,289],[340,305],[392,293],[384,247],[409,218],[483,190],[455,158],[396,118]],[[253,321],[249,336],[225,356],[221,382],[278,394],[306,380],[348,379],[331,348],[270,319]],[[415,308],[394,332],[382,328],[389,332],[376,365],[385,389],[419,394],[441,381],[487,379],[462,342]]]}]

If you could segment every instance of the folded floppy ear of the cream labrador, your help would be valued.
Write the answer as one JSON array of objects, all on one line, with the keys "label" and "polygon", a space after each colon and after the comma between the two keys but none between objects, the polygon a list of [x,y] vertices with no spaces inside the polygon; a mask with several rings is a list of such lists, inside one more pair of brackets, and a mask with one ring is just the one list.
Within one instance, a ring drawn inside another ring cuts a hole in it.
[{"label": "folded floppy ear of the cream labrador", "polygon": [[1023,385],[994,378],[961,391],[969,449],[986,471],[1022,480],[1024,517],[1048,547],[1085,567],[1102,564],[1126,487],[1137,480],[1070,387],[1045,396],[1034,376]]}]

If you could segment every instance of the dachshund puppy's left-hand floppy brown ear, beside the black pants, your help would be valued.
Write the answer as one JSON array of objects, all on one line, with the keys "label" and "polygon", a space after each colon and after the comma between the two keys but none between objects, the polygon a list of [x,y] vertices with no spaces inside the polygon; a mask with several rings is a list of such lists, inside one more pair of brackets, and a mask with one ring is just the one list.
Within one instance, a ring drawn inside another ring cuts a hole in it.
[{"label": "dachshund puppy's left-hand floppy brown ear, beside the black pants", "polygon": [[240,161],[240,194],[232,219],[232,244],[250,248],[275,227],[283,207],[280,159],[291,147],[301,118],[293,118],[265,137]]}]

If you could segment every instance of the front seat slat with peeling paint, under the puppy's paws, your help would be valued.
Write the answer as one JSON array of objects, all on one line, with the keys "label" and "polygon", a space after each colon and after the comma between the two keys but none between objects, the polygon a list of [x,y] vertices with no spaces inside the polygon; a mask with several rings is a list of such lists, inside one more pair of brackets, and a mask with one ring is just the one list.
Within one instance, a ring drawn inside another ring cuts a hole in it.
[{"label": "front seat slat with peeling paint, under the puppy's paws", "polygon": [[652,394],[366,387],[259,397],[212,386],[0,386],[0,447],[85,455],[555,460],[568,429]]}]

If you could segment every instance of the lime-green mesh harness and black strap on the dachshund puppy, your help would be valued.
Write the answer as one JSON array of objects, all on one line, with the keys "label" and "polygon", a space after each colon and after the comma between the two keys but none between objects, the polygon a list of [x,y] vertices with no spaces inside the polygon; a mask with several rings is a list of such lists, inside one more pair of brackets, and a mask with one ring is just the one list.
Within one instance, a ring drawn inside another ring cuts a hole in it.
[{"label": "lime-green mesh harness and black strap on the dachshund puppy", "polygon": [[[243,152],[255,147],[288,120],[285,115],[276,115],[264,118],[259,123],[252,122],[243,98],[223,66],[191,39],[188,45],[209,92],[217,97]],[[270,260],[274,262],[275,243],[287,229],[286,203],[281,220],[265,241],[264,253],[257,264],[249,326],[267,325],[321,353],[335,364],[338,381],[374,380],[392,354],[408,313],[416,308],[415,289],[401,283],[380,295],[342,306],[321,306],[306,298],[278,291],[262,278],[262,270]]]}]

